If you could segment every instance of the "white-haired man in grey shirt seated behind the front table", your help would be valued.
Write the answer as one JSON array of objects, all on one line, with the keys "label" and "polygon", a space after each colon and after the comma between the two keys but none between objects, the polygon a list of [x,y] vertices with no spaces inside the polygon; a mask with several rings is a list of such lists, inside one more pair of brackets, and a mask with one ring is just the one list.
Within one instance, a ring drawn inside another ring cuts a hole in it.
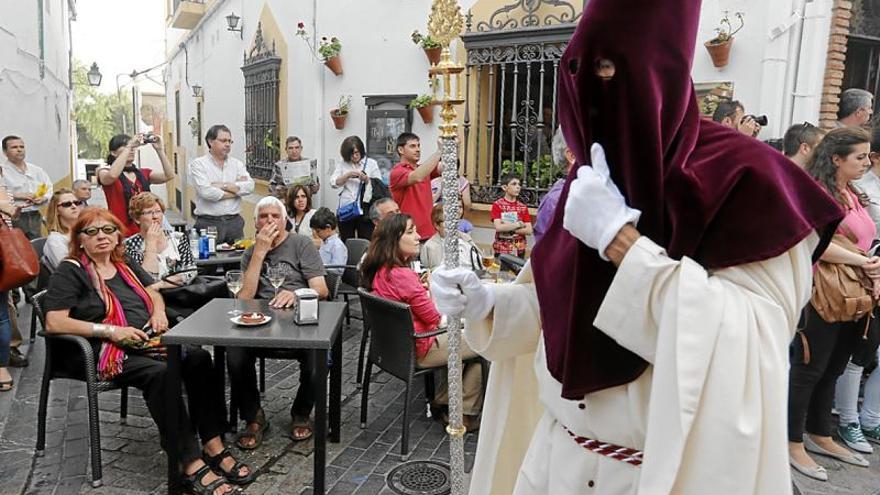
[{"label": "white-haired man in grey shirt seated behind the front table", "polygon": [[[244,271],[241,299],[271,299],[273,308],[293,306],[294,291],[309,287],[318,297],[327,297],[327,283],[324,281],[324,264],[311,239],[301,235],[291,235],[284,226],[287,210],[274,196],[260,200],[256,207],[257,240],[241,258]],[[269,282],[269,268],[284,273],[284,283],[278,295]],[[232,396],[238,404],[247,428],[239,435],[238,446],[242,449],[255,449],[263,442],[263,433],[269,427],[266,415],[260,405],[260,392],[257,389],[255,363],[257,357],[272,357],[271,350],[252,348],[229,348],[226,364],[229,368],[229,381]],[[300,384],[290,410],[290,436],[296,441],[312,436],[310,416],[315,403],[311,383],[312,365],[306,351],[285,352],[285,357],[293,357],[300,362]]]}]

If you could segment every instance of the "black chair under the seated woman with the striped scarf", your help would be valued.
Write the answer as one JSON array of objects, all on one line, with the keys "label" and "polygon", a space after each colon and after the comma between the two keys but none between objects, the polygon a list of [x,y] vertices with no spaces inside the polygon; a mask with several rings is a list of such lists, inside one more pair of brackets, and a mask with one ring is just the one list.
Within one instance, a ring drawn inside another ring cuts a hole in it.
[{"label": "black chair under the seated woman with the striped scarf", "polygon": [[[34,311],[40,319],[40,324],[46,328],[46,315],[42,306],[42,299],[46,291],[34,295]],[[128,415],[128,387],[98,379],[95,364],[95,353],[92,344],[83,337],[77,335],[57,335],[46,331],[40,331],[46,341],[46,359],[43,367],[43,383],[40,387],[40,403],[37,409],[37,448],[36,454],[42,457],[46,449],[46,409],[49,403],[49,385],[52,380],[65,378],[86,382],[86,394],[88,397],[89,410],[89,450],[92,454],[92,486],[97,488],[102,485],[101,478],[101,425],[98,418],[98,394],[110,390],[121,389],[121,403],[119,406],[119,420],[125,423]],[[71,366],[65,362],[65,356],[80,354],[84,363],[79,366]]]}]

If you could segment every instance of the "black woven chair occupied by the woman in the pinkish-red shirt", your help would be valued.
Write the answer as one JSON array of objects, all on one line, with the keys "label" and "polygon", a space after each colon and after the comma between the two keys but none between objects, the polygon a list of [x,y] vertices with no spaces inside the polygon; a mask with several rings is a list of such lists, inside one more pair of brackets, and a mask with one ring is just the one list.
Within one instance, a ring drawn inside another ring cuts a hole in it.
[{"label": "black woven chair occupied by the woman in the pinkish-red shirt", "polygon": [[[367,426],[367,397],[370,394],[370,376],[373,365],[376,365],[406,383],[400,450],[401,455],[407,457],[409,454],[409,403],[412,397],[413,379],[424,375],[425,399],[430,401],[434,397],[433,373],[446,368],[445,366],[418,367],[415,342],[416,339],[440,335],[446,330],[417,334],[413,327],[412,312],[410,312],[408,304],[385,299],[365,289],[358,289],[358,295],[364,314],[364,328],[370,331],[370,351],[364,368],[364,382],[361,390],[361,428]],[[485,390],[488,362],[480,357],[465,362],[480,363],[483,368],[483,390]]]}]

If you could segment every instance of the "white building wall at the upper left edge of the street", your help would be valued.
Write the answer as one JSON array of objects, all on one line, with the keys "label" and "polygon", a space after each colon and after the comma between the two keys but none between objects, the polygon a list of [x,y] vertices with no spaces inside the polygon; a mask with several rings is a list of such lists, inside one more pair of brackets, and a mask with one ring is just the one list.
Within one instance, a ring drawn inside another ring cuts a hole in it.
[{"label": "white building wall at the upper left edge of the street", "polygon": [[43,1],[43,77],[38,5],[0,1],[0,137],[21,136],[26,159],[57,181],[71,173],[68,2]]}]

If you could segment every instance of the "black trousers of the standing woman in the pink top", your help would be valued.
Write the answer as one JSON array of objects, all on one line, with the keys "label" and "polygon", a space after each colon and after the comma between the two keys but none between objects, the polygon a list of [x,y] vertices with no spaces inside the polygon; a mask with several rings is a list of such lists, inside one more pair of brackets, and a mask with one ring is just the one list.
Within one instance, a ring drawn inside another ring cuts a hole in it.
[{"label": "black trousers of the standing woman in the pink top", "polygon": [[810,362],[804,363],[804,344],[801,336],[795,335],[788,380],[789,441],[803,442],[805,429],[813,435],[831,436],[834,387],[862,339],[864,329],[864,318],[828,323],[812,305],[807,306],[803,335],[809,347]]}]

